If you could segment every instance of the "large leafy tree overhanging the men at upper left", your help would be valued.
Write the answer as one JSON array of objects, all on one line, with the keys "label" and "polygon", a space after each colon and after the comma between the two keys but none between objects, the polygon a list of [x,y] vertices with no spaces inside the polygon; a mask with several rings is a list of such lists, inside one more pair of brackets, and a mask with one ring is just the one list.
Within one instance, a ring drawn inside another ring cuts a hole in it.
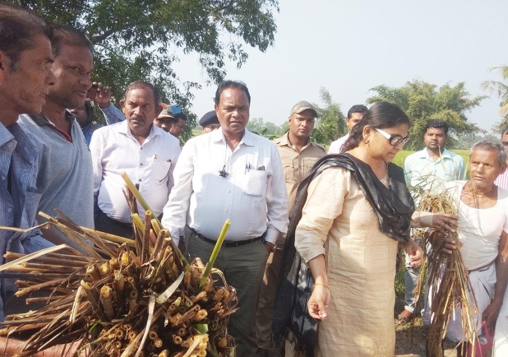
[{"label": "large leafy tree overhanging the men at upper left", "polygon": [[177,53],[199,54],[208,75],[218,83],[225,61],[239,68],[248,58],[244,46],[260,51],[273,45],[277,0],[8,0],[82,30],[94,45],[93,80],[110,85],[121,98],[126,85],[147,80],[163,99],[179,104],[188,117],[185,137],[196,123],[190,112],[196,82],[173,70]]}]

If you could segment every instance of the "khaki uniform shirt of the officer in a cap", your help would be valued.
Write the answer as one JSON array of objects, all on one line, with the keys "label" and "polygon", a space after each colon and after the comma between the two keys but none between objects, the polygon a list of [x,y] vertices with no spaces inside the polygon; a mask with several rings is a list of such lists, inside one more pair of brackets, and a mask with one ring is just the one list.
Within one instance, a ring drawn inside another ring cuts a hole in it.
[{"label": "khaki uniform shirt of the officer in a cap", "polygon": [[[289,217],[291,218],[291,211],[295,203],[298,185],[302,182],[303,177],[305,177],[314,163],[326,155],[326,150],[324,146],[315,144],[309,138],[307,145],[298,152],[296,147],[291,144],[288,135],[289,132],[285,133],[282,137],[274,139],[273,142],[279,151],[280,160],[282,161],[286,189],[288,190]],[[277,245],[279,247],[280,243],[283,244],[283,237],[279,237],[277,240]]]}]

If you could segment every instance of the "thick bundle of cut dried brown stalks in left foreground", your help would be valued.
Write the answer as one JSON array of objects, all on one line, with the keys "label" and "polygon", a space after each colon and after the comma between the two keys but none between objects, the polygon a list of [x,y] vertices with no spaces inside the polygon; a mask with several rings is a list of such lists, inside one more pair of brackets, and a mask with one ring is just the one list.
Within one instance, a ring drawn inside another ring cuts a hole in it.
[{"label": "thick bundle of cut dried brown stalks in left foreground", "polygon": [[[210,268],[199,259],[186,262],[150,211],[145,223],[133,215],[135,240],[79,227],[61,214],[40,214],[83,253],[62,244],[28,256],[6,254],[14,260],[0,267],[1,276],[19,279],[17,296],[48,293],[26,299],[44,307],[7,316],[2,324],[1,335],[29,332],[16,356],[79,340],[80,350],[94,357],[229,355],[234,341],[227,322],[238,304],[235,289],[210,269],[213,259]],[[153,245],[150,236],[156,237]],[[62,248],[64,253],[56,253]],[[214,284],[210,270],[222,284]]]}]

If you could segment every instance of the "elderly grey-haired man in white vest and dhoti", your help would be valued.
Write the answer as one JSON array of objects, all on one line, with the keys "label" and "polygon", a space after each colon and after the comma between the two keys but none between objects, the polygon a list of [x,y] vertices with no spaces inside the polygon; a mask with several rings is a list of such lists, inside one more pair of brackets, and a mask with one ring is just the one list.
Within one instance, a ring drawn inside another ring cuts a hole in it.
[{"label": "elderly grey-haired man in white vest and dhoti", "polygon": [[[461,251],[479,310],[475,317],[479,334],[483,321],[488,327],[496,323],[508,283],[508,191],[494,185],[497,176],[506,169],[505,161],[506,153],[500,142],[477,142],[469,155],[471,180],[443,185],[452,197],[460,197],[459,242],[447,244],[444,251]],[[447,240],[450,242],[451,238]],[[431,317],[429,307],[428,304],[424,313],[426,325]],[[455,316],[460,316],[459,309]],[[454,342],[464,339],[460,318],[450,320],[447,338]],[[458,356],[463,355],[461,347]]]}]

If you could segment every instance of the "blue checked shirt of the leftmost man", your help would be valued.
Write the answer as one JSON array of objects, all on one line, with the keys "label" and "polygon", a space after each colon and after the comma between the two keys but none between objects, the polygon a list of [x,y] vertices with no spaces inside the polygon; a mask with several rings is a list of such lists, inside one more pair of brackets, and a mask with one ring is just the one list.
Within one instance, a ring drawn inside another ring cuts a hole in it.
[{"label": "blue checked shirt of the leftmost man", "polygon": [[[35,215],[40,193],[36,188],[39,154],[31,136],[17,124],[6,128],[0,122],[0,226],[30,228],[37,225]],[[41,231],[26,233],[0,229],[0,263],[9,252],[30,254],[53,244]],[[4,320],[6,291],[14,291],[14,279],[0,279],[0,320]]]}]

